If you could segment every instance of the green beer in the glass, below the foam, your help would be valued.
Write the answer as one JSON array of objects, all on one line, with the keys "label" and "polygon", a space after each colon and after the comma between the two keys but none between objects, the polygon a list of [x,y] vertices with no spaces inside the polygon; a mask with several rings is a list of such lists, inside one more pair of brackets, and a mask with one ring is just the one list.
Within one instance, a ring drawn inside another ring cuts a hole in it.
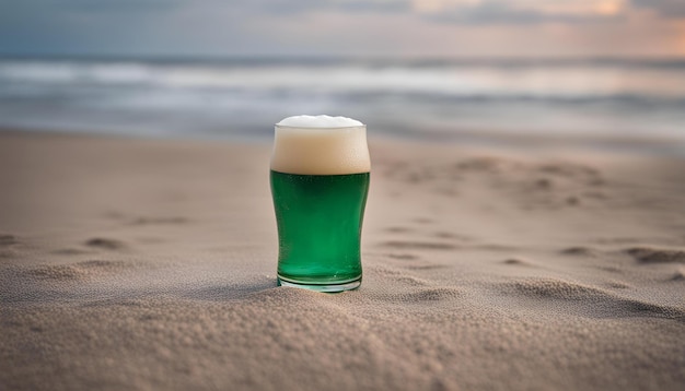
[{"label": "green beer in the glass, below the foam", "polygon": [[298,175],[271,170],[278,277],[305,285],[361,280],[360,236],[369,173]]}]

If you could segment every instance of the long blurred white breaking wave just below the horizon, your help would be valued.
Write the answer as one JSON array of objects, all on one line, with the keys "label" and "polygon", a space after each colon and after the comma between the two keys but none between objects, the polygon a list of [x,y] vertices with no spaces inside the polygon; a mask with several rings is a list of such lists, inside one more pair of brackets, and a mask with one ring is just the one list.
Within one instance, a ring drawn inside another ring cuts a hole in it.
[{"label": "long blurred white breaking wave just below the horizon", "polygon": [[0,82],[25,86],[146,86],[181,90],[423,94],[455,97],[685,97],[685,68],[491,68],[360,64],[236,66],[146,62],[0,61]]}]

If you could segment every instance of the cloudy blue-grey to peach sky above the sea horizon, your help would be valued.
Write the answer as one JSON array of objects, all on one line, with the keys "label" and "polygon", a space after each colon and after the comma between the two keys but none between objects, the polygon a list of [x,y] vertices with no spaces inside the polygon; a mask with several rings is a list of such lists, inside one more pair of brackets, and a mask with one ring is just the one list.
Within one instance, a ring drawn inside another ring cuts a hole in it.
[{"label": "cloudy blue-grey to peach sky above the sea horizon", "polygon": [[685,57],[685,0],[0,0],[0,55]]}]

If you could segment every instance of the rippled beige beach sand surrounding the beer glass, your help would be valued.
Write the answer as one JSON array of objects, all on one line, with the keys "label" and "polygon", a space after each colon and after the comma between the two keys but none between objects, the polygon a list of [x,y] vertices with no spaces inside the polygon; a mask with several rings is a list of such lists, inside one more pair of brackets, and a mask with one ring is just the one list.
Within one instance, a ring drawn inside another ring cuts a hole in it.
[{"label": "rippled beige beach sand surrounding the beer glass", "polygon": [[372,140],[360,289],[269,146],[0,133],[0,390],[682,390],[685,159]]}]

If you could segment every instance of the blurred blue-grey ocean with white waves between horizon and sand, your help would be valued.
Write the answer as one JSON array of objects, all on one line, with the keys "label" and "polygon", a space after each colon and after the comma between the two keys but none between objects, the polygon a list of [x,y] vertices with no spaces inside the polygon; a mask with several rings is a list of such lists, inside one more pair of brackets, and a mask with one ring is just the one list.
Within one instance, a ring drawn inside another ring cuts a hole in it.
[{"label": "blurred blue-grey ocean with white waves between horizon and sand", "polygon": [[0,58],[0,128],[269,140],[297,114],[371,135],[672,140],[685,60]]}]

